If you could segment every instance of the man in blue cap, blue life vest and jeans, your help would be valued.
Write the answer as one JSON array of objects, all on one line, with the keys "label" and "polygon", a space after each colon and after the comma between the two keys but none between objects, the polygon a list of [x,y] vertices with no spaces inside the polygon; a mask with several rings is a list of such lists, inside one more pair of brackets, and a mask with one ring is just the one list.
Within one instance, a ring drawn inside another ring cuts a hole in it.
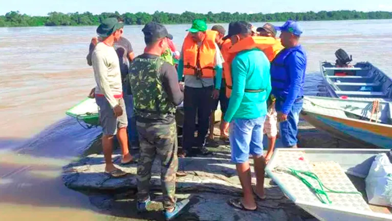
[{"label": "man in blue cap, blue life vest and jeans", "polygon": [[285,147],[297,148],[299,113],[303,104],[303,84],[307,66],[306,52],[299,44],[302,29],[294,21],[281,27],[281,50],[271,63],[271,93],[276,97],[280,137]]}]

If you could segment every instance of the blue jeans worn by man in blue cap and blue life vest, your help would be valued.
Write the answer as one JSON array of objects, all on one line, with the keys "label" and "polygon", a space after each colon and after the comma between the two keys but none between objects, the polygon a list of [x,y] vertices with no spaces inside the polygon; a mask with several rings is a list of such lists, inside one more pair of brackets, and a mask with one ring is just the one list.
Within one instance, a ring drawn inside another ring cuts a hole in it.
[{"label": "blue jeans worn by man in blue cap and blue life vest", "polygon": [[[276,111],[281,110],[281,106],[284,104],[284,101],[276,102]],[[285,122],[280,122],[280,139],[282,141],[283,146],[291,147],[297,145],[298,139],[298,122],[299,122],[299,113],[302,110],[303,99],[300,101],[294,102],[293,106],[289,114],[287,115],[287,120]]]}]

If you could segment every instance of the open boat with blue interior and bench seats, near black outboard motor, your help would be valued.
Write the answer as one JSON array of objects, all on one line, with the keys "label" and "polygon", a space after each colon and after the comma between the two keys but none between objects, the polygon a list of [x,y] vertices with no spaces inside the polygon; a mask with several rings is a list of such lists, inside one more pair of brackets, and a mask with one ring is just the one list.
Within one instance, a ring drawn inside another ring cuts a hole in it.
[{"label": "open boat with blue interior and bench seats, near black outboard motor", "polygon": [[332,97],[392,101],[392,76],[369,62],[346,68],[321,62],[320,69],[326,90]]}]

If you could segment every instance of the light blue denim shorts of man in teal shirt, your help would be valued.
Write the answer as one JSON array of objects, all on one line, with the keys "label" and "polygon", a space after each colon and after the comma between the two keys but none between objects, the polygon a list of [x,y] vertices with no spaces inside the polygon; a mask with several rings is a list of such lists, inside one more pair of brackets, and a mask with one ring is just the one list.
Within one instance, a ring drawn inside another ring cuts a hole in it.
[{"label": "light blue denim shorts of man in teal shirt", "polygon": [[233,119],[230,123],[231,161],[248,162],[249,154],[263,155],[263,127],[266,115],[255,119]]}]

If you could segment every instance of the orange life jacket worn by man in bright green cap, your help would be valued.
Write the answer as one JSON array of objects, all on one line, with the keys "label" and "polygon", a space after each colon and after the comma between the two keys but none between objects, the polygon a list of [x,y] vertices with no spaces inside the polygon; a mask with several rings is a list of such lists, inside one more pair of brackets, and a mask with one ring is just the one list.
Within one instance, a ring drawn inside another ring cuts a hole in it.
[{"label": "orange life jacket worn by man in bright green cap", "polygon": [[197,75],[203,78],[212,78],[215,73],[215,39],[217,31],[206,31],[206,37],[199,48],[191,35],[185,37],[183,44],[184,75]]}]

